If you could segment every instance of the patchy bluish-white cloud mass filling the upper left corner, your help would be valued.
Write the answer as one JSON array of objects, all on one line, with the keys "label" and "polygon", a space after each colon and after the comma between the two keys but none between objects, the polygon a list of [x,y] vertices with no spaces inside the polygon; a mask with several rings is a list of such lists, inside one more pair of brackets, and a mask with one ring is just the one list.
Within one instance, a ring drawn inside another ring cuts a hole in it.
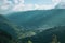
[{"label": "patchy bluish-white cloud mass filling the upper left corner", "polygon": [[15,9],[22,8],[23,3],[24,0],[1,0],[0,12],[9,12],[9,11],[13,11],[14,8]]}]

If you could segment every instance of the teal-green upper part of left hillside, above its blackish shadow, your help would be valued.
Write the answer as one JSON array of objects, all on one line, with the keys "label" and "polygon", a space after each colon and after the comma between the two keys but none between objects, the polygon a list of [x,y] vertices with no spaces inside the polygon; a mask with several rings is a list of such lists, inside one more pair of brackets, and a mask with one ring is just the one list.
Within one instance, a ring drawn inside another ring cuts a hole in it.
[{"label": "teal-green upper part of left hillside, above its blackish shadow", "polygon": [[10,32],[10,34],[14,34],[14,27],[5,19],[3,16],[0,15],[0,29]]}]

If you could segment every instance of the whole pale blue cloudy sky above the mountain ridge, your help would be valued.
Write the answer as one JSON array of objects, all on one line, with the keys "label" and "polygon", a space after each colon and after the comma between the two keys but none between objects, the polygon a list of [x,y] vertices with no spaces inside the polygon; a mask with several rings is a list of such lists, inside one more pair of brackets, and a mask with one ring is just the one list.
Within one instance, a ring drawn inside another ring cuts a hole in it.
[{"label": "whole pale blue cloudy sky above the mountain ridge", "polygon": [[61,0],[0,0],[0,13],[11,11],[49,10]]}]

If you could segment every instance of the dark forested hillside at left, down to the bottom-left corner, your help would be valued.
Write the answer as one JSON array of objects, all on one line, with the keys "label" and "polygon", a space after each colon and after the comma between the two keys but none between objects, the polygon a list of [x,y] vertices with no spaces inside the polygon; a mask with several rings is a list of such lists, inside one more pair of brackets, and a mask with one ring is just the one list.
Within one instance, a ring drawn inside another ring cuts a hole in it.
[{"label": "dark forested hillside at left, down to the bottom-left corner", "polygon": [[15,28],[0,14],[0,43],[15,43]]}]

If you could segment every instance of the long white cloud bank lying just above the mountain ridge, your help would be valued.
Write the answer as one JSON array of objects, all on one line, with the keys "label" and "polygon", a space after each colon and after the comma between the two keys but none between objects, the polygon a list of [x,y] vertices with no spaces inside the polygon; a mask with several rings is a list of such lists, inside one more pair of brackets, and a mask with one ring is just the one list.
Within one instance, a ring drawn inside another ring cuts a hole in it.
[{"label": "long white cloud bank lying just above the mountain ridge", "polygon": [[50,10],[54,9],[53,4],[18,4],[13,8],[13,11],[28,11],[28,10]]}]

